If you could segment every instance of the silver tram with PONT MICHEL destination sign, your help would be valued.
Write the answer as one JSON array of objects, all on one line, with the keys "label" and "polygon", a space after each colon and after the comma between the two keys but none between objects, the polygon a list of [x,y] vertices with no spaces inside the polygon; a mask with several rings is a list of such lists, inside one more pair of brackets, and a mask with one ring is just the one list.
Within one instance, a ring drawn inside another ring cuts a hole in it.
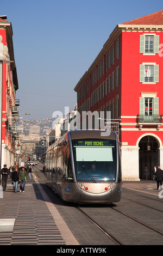
[{"label": "silver tram with PONT MICHEL destination sign", "polygon": [[47,149],[45,177],[46,184],[67,202],[120,201],[121,158],[116,133],[67,132]]}]

